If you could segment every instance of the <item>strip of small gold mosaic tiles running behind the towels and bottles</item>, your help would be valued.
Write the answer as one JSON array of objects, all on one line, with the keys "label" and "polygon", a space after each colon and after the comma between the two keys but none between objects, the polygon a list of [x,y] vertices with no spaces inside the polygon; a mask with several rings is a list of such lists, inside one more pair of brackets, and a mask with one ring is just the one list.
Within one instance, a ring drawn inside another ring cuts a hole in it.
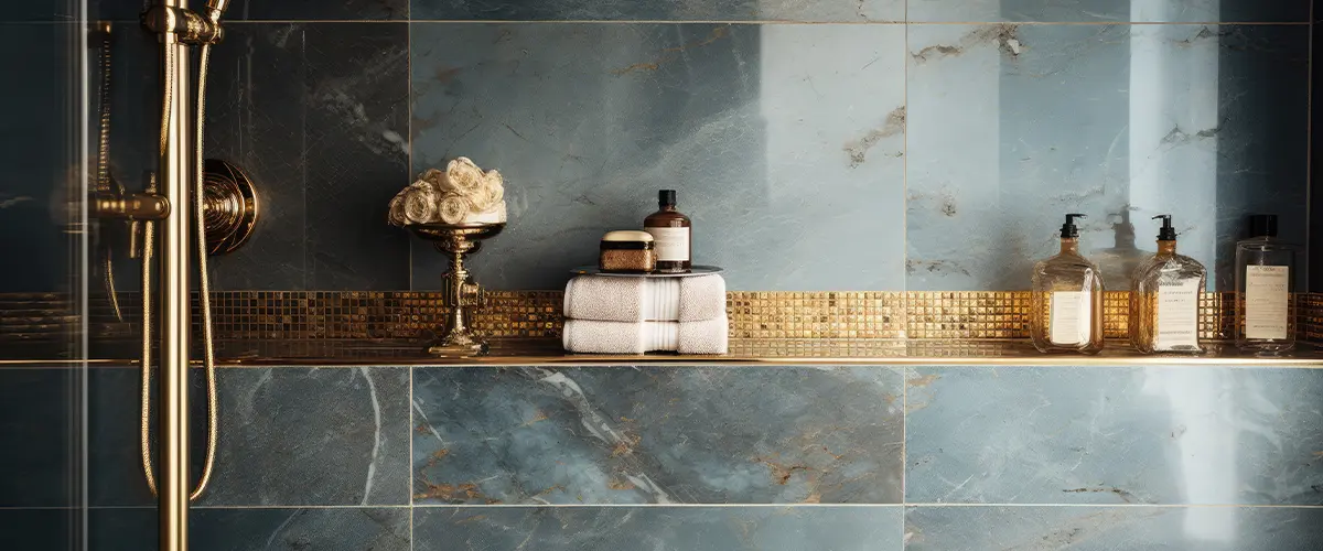
[{"label": "strip of small gold mosaic tiles running behind the towels and bottles", "polygon": [[[474,325],[492,338],[557,338],[564,293],[493,291]],[[126,320],[94,299],[94,338],[134,338],[138,295],[123,293]],[[1298,297],[1299,334],[1323,342],[1323,293]],[[1200,299],[1200,334],[1228,340],[1234,322],[1230,293]],[[730,292],[733,340],[912,340],[968,341],[1028,338],[1029,292]],[[0,295],[0,341],[62,338],[78,328],[64,295]],[[222,340],[426,338],[446,322],[441,292],[230,291],[213,293],[214,334]],[[1107,292],[1107,338],[1127,336],[1129,293]],[[194,311],[194,322],[198,322]]]}]

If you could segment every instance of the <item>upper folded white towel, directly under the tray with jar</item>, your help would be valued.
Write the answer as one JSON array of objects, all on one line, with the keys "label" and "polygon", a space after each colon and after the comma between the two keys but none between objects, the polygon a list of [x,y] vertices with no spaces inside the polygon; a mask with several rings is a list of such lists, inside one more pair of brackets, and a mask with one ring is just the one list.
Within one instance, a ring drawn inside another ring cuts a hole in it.
[{"label": "upper folded white towel, directly under the tray with jar", "polygon": [[578,276],[565,285],[565,317],[595,321],[705,321],[725,317],[726,280]]}]

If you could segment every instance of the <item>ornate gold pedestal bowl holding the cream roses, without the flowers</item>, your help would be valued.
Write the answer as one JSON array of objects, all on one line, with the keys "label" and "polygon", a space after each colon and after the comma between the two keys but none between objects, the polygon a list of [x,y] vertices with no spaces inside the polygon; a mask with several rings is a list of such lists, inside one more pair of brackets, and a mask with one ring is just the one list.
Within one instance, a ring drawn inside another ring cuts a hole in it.
[{"label": "ornate gold pedestal bowl holding the cream roses, without the flowers", "polygon": [[450,271],[442,275],[443,301],[450,308],[450,318],[443,337],[429,346],[427,353],[446,358],[487,354],[490,346],[474,332],[470,320],[472,309],[486,303],[486,295],[482,285],[474,283],[472,274],[464,270],[464,255],[476,252],[483,239],[496,237],[505,225],[423,223],[406,227],[419,238],[433,242],[438,251],[450,255]]}]

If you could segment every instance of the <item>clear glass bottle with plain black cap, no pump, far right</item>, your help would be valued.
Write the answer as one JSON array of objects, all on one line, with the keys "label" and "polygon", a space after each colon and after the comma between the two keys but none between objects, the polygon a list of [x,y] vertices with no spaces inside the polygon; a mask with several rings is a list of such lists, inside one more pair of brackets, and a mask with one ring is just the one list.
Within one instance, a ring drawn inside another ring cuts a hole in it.
[{"label": "clear glass bottle with plain black cap, no pump, far right", "polygon": [[1236,345],[1256,353],[1295,348],[1295,246],[1277,238],[1277,215],[1250,217],[1236,243]]}]

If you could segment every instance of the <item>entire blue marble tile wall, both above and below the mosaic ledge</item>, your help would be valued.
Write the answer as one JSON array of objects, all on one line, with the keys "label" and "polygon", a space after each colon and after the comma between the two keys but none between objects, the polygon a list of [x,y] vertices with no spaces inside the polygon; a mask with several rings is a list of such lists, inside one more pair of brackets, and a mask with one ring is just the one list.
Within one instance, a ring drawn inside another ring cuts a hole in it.
[{"label": "entire blue marble tile wall, both above and below the mosaic ledge", "polygon": [[[122,30],[131,189],[155,126],[142,4],[91,5]],[[233,4],[208,147],[267,207],[220,289],[435,288],[439,255],[384,207],[455,155],[509,178],[512,223],[474,263],[495,288],[560,287],[658,188],[734,289],[1023,288],[1068,210],[1099,259],[1171,211],[1216,288],[1245,214],[1306,240],[1307,3]],[[29,263],[3,291],[99,264],[53,192],[78,164],[71,5],[0,15],[22,82],[0,104],[0,254]],[[136,385],[0,369],[0,470],[24,473],[0,478],[5,548],[75,548],[82,526],[153,548]],[[1320,394],[1320,370],[1240,367],[226,369],[193,547],[1307,551]]]}]

